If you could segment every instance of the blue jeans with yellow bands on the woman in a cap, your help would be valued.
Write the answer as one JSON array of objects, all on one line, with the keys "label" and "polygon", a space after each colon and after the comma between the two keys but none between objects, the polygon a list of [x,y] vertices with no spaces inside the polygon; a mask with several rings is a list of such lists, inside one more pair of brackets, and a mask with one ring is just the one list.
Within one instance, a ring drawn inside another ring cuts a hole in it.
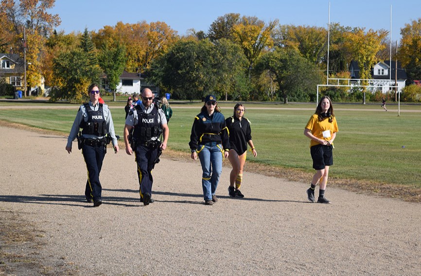
[{"label": "blue jeans with yellow bands on the woman in a cap", "polygon": [[219,183],[219,176],[222,172],[222,145],[217,142],[209,142],[199,145],[198,155],[202,165],[202,188],[206,200],[212,200],[216,187]]}]

